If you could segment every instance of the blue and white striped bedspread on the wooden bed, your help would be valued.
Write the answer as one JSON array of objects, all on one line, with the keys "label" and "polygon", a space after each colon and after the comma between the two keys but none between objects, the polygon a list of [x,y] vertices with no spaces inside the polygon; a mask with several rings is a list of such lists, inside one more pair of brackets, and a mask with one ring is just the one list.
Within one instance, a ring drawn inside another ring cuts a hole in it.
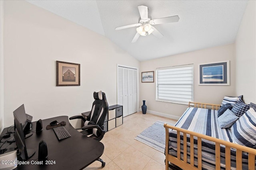
[{"label": "blue and white striped bedspread on the wooden bed", "polygon": [[[175,124],[176,127],[201,133],[218,139],[232,142],[230,128],[221,129],[218,125],[217,110],[189,107]],[[183,134],[181,138],[181,159],[183,160]],[[187,135],[187,161],[190,163],[190,138]],[[221,169],[225,169],[225,148],[221,145]],[[169,132],[169,154],[177,157],[177,131]],[[248,155],[242,155],[243,170],[248,169]],[[194,137],[194,165],[197,166],[197,138]],[[236,151],[231,149],[231,167],[236,169]],[[202,168],[215,170],[215,145],[202,139]]]}]

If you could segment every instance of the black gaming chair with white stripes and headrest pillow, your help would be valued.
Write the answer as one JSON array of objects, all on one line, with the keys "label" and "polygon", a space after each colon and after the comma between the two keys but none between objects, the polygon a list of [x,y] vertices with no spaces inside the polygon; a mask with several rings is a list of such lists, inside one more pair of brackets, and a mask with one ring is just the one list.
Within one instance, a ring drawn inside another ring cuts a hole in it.
[{"label": "black gaming chair with white stripes and headrest pillow", "polygon": [[94,92],[93,97],[95,100],[87,119],[82,115],[72,116],[69,119],[82,119],[84,121],[84,127],[82,127],[83,131],[81,131],[81,133],[92,139],[100,141],[105,134],[104,120],[108,113],[108,102],[105,93],[102,91]]}]

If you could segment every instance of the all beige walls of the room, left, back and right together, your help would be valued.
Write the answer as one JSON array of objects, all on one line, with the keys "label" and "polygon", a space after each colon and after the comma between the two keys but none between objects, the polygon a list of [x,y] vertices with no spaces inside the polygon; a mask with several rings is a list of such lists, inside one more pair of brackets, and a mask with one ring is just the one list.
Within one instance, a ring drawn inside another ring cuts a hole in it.
[{"label": "all beige walls of the room, left, back and right together", "polygon": [[[106,37],[28,2],[0,2],[0,131],[3,122],[13,124],[21,104],[35,121],[90,110],[93,91],[106,92],[108,103],[116,104],[117,64],[140,68],[139,107],[146,100],[154,114],[178,119],[187,106],[156,101],[156,84],[141,83],[141,72],[183,64],[194,64],[194,101],[219,104],[225,95],[243,94],[246,103],[256,103],[255,1],[248,2],[235,44],[141,63]],[[198,86],[198,64],[225,60],[230,86]],[[56,61],[80,63],[81,86],[56,87]]]}]

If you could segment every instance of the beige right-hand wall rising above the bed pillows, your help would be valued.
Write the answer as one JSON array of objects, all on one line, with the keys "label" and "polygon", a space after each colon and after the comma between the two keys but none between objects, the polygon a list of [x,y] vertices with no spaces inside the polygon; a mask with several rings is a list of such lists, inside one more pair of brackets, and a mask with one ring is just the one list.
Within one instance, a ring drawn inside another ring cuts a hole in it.
[{"label": "beige right-hand wall rising above the bed pillows", "polygon": [[248,2],[240,24],[236,42],[236,94],[244,95],[244,102],[256,103],[256,1]]}]

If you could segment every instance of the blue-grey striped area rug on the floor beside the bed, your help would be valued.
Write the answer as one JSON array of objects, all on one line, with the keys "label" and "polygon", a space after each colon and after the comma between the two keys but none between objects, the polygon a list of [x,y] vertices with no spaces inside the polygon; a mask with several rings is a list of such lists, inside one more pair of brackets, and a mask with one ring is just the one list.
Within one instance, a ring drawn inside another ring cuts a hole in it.
[{"label": "blue-grey striped area rug on the floor beside the bed", "polygon": [[[137,141],[140,141],[160,152],[164,153],[165,149],[165,129],[162,121],[156,121],[153,125],[145,129],[140,135],[135,137]],[[168,123],[172,125],[172,123]]]}]

